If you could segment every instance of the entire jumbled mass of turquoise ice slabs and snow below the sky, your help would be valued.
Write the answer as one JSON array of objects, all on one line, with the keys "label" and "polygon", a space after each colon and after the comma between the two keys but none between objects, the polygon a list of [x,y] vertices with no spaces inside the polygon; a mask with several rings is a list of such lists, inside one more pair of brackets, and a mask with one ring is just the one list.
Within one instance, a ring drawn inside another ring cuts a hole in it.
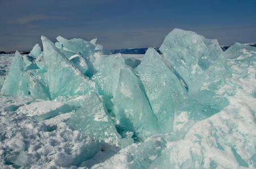
[{"label": "entire jumbled mass of turquoise ice slabs and snow below the sky", "polygon": [[174,29],[136,59],[41,39],[0,56],[0,168],[256,167],[255,47]]}]

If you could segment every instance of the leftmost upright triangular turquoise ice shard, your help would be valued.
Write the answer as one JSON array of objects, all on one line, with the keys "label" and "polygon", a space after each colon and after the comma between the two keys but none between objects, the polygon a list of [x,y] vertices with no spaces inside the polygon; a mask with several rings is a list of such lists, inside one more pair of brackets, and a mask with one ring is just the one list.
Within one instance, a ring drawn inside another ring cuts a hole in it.
[{"label": "leftmost upright triangular turquoise ice shard", "polygon": [[23,57],[16,51],[9,73],[1,89],[2,95],[28,95],[28,85],[24,74]]}]

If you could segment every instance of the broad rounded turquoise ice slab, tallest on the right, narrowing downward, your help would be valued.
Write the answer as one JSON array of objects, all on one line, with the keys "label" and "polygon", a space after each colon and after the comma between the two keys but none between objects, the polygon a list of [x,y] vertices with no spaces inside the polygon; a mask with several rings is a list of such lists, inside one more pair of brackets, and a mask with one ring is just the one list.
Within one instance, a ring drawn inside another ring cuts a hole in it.
[{"label": "broad rounded turquoise ice slab, tallest on the right, narrowing downward", "polygon": [[159,49],[184,79],[189,92],[201,88],[204,70],[223,53],[216,40],[181,29],[173,29]]}]

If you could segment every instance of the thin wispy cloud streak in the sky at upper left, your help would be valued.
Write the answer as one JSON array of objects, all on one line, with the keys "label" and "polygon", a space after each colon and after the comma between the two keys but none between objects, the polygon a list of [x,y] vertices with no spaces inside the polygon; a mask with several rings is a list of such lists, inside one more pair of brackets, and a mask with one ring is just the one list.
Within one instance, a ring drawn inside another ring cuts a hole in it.
[{"label": "thin wispy cloud streak in the sky at upper left", "polygon": [[61,16],[50,16],[50,15],[34,15],[34,16],[25,16],[20,17],[15,20],[8,21],[8,24],[23,24],[28,25],[36,21],[43,21],[43,20],[63,20],[66,19],[66,17]]}]

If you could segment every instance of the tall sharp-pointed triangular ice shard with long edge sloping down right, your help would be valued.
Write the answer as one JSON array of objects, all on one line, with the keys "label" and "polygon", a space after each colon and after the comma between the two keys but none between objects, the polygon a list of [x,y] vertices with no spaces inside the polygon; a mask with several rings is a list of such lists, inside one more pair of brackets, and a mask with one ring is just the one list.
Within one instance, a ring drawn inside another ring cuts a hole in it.
[{"label": "tall sharp-pointed triangular ice shard with long edge sloping down right", "polygon": [[41,37],[44,46],[44,61],[47,72],[46,81],[51,99],[58,96],[79,96],[95,91],[95,83],[90,81],[72,64],[54,43]]}]

